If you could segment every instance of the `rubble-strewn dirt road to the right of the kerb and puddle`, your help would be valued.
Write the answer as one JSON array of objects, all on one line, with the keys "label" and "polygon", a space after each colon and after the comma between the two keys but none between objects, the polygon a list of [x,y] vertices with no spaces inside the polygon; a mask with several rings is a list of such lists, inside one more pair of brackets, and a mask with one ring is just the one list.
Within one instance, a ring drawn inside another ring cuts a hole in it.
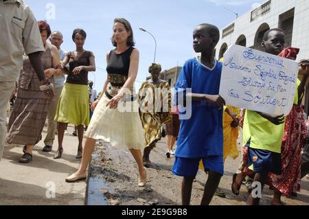
[{"label": "rubble-strewn dirt road to the right of the kerb and puddle", "polygon": [[[145,188],[137,187],[137,164],[129,151],[117,150],[108,143],[97,146],[91,162],[91,176],[102,178],[104,186],[101,192],[106,195],[111,205],[181,205],[181,180],[171,173],[174,158],[165,157],[165,139],[157,143],[157,148],[150,153],[152,167],[147,169],[148,181]],[[240,150],[240,144],[238,144]],[[220,189],[226,197],[214,196],[211,205],[246,205],[247,188],[242,185],[238,196],[231,192],[233,173],[236,172],[240,157],[236,160],[227,158],[225,175],[220,181]],[[199,205],[207,175],[198,171],[192,189],[191,205]],[[107,189],[106,189],[107,188]],[[265,187],[260,205],[270,205],[273,191]],[[297,198],[282,197],[286,205],[309,205],[309,181],[303,178],[301,191]]]}]

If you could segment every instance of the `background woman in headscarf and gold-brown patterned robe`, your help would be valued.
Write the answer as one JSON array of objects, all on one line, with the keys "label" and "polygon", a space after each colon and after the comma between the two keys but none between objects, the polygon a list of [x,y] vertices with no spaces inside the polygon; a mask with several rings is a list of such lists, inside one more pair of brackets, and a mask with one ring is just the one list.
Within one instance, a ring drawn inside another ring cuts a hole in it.
[{"label": "background woman in headscarf and gold-brown patterned robe", "polygon": [[148,71],[151,79],[139,89],[139,116],[144,128],[146,148],[143,163],[150,165],[149,154],[161,139],[161,126],[172,120],[170,84],[159,78],[161,65],[152,63]]}]

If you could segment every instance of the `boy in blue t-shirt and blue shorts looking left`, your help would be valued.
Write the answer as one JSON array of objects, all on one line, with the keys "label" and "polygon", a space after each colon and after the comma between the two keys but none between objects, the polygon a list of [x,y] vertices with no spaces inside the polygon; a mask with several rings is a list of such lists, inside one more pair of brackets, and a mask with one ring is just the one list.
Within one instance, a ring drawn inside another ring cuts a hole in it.
[{"label": "boy in blue t-shirt and blue shorts looking left", "polygon": [[[203,160],[205,172],[209,173],[201,205],[209,205],[224,172],[222,107],[225,100],[218,95],[222,64],[214,58],[219,38],[220,32],[214,25],[204,23],[196,27],[193,47],[197,53],[201,52],[201,58],[185,62],[175,86],[174,100],[179,105],[181,128],[172,172],[183,176],[183,205],[190,205],[199,161]],[[187,98],[192,102],[186,101]],[[185,119],[184,107],[192,108],[189,119]]]}]

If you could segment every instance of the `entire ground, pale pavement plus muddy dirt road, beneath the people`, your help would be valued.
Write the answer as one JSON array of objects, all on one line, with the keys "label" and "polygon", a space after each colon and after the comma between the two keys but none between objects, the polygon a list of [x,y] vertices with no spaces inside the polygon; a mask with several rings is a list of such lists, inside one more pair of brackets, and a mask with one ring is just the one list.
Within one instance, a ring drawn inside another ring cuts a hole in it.
[{"label": "entire ground, pale pavement plus muddy dirt road, beneath the people", "polygon": [[[6,146],[0,163],[0,205],[181,205],[181,177],[170,172],[174,158],[165,157],[165,140],[157,143],[150,153],[152,167],[147,169],[145,188],[137,186],[137,165],[128,150],[118,150],[108,143],[98,143],[91,161],[91,178],[87,194],[87,181],[65,183],[65,178],[75,172],[80,160],[75,158],[78,138],[64,138],[62,159],[54,160],[53,151],[42,152],[43,141],[34,147],[33,161],[18,163],[22,146]],[[43,131],[43,139],[46,127]],[[57,137],[57,136],[56,136]],[[240,148],[239,148],[240,149]],[[231,193],[231,179],[240,157],[227,158],[225,175],[220,189],[226,198],[214,196],[211,205],[245,205],[248,193],[244,185],[239,196]],[[199,205],[207,175],[199,171],[192,189],[191,205]],[[264,189],[261,205],[270,205],[273,192]],[[88,199],[87,199],[88,197]],[[282,198],[286,205],[309,205],[309,181],[303,178],[301,191],[296,198]]]}]

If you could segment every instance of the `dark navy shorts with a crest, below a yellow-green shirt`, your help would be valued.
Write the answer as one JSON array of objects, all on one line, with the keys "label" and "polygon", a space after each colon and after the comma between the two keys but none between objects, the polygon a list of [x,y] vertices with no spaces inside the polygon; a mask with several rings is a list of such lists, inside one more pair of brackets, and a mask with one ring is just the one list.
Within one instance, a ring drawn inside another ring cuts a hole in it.
[{"label": "dark navy shorts with a crest, below a yellow-green shirt", "polygon": [[281,174],[281,154],[269,150],[248,148],[248,166],[253,172]]}]

